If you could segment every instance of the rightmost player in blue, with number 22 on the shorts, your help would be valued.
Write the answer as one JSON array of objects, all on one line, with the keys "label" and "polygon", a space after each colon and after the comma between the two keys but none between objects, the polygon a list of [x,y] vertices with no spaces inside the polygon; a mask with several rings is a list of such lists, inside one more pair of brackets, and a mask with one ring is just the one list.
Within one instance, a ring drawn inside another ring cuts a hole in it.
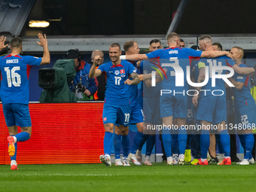
[{"label": "rightmost player in blue, with number 22 on the shorts", "polygon": [[[247,66],[242,63],[244,51],[241,47],[233,47],[230,50],[233,59],[239,64],[239,67]],[[252,128],[256,124],[256,105],[250,90],[250,75],[239,75],[235,72],[233,78],[230,78],[232,84],[236,87],[234,90],[235,98],[235,120],[236,132],[239,136],[242,148],[245,150],[245,157],[239,165],[249,165],[254,163],[251,151],[254,145],[254,136]]]}]

